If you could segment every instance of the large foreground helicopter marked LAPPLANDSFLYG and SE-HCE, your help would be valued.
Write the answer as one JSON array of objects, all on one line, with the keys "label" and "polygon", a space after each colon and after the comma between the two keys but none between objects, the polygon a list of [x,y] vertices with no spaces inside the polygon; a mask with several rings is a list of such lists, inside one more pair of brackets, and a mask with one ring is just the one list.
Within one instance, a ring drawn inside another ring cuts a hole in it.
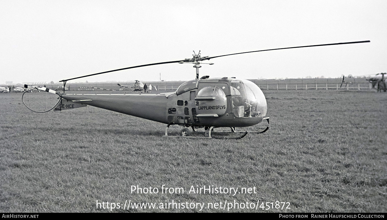
[{"label": "large foreground helicopter marked LAPPLANDSFLYG and SE-HCE", "polygon": [[[175,92],[159,94],[66,94],[64,90],[63,92],[58,92],[48,88],[33,88],[29,85],[24,86],[28,89],[44,90],[59,96],[58,104],[48,111],[52,109],[54,109],[54,111],[63,111],[90,105],[164,123],[166,124],[164,136],[168,136],[168,128],[171,125],[177,124],[183,127],[182,130],[180,130],[180,136],[189,136],[191,132],[188,129],[189,127],[191,127],[193,131],[195,131],[196,128],[204,128],[205,138],[212,138],[211,131],[213,131],[214,128],[231,128],[231,133],[241,134],[233,139],[240,139],[247,135],[248,131],[237,132],[235,130],[236,127],[250,127],[259,124],[264,120],[266,120],[269,125],[269,117],[266,117],[267,103],[265,96],[260,88],[249,80],[237,79],[235,77],[210,78],[209,76],[202,76],[199,78],[199,68],[201,67],[201,64],[214,64],[203,63],[202,61],[223,56],[260,51],[367,42],[370,41],[264,49],[220,56],[201,56],[200,51],[197,54],[194,51],[192,58],[121,68],[60,81],[63,82],[63,87],[65,87],[68,80],[119,70],[166,63],[194,64],[193,67],[196,69],[195,79],[184,82]],[[25,103],[24,105],[29,108]],[[30,110],[34,111],[33,109]],[[262,131],[250,133],[264,133],[268,129],[269,126]]]}]

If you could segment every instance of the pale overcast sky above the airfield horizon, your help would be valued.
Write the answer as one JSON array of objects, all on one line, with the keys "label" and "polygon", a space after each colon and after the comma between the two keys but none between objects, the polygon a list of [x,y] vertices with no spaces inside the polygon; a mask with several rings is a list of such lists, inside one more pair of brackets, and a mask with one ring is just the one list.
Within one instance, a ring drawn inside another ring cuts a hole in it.
[{"label": "pale overcast sky above the airfield horizon", "polygon": [[[200,76],[298,78],[387,72],[387,1],[0,0],[0,84],[59,80],[148,63],[214,58]],[[191,80],[164,64],[69,82]]]}]

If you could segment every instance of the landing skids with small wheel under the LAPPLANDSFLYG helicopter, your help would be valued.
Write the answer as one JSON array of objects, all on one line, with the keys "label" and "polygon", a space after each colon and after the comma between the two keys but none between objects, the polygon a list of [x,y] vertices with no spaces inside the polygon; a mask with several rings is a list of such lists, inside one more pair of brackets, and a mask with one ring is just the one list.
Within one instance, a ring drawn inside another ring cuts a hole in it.
[{"label": "landing skids with small wheel under the LAPPLANDSFLYG helicopter", "polygon": [[[263,118],[263,119],[266,119],[267,124],[269,124],[269,117]],[[165,135],[164,136],[168,136],[168,128],[169,128],[169,126],[171,126],[171,124],[173,124],[173,123],[169,123],[167,125],[167,127],[165,128]],[[243,138],[244,136],[246,136],[248,133],[260,134],[260,133],[265,133],[267,130],[269,130],[269,126],[267,126],[265,128],[265,130],[263,130],[263,131],[245,131],[245,132],[241,132],[241,131],[235,131],[235,127],[231,127],[231,132],[229,132],[229,131],[217,131],[217,133],[241,133],[242,134],[241,136],[238,136],[238,137],[235,137],[235,138],[228,138],[228,137],[214,137],[214,136],[211,136],[211,131],[214,128],[216,128],[216,127],[214,127],[214,126],[206,127],[205,130],[204,130],[204,137],[188,136],[188,135],[190,135],[190,131],[188,130],[188,128],[183,128],[182,130],[180,130],[180,136],[187,137],[187,138],[214,138],[214,139],[235,139],[235,140],[239,140],[239,139]],[[193,126],[192,126],[192,130],[195,131]],[[170,137],[170,136],[168,136],[168,137]]]}]

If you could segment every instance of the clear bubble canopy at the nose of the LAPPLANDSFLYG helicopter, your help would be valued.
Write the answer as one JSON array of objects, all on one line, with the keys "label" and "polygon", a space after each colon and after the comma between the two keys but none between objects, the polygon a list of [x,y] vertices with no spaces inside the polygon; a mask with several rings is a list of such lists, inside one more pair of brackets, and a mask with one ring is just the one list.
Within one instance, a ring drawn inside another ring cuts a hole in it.
[{"label": "clear bubble canopy at the nose of the LAPPLANDSFLYG helicopter", "polygon": [[231,80],[231,101],[236,117],[264,117],[267,112],[266,99],[259,87],[249,81]]}]

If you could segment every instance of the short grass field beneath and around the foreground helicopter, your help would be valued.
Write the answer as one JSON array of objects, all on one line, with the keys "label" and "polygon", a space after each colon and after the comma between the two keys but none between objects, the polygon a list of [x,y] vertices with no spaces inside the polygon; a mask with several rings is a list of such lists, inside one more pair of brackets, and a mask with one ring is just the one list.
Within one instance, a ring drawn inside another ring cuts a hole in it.
[{"label": "short grass field beneath and around the foreground helicopter", "polygon": [[[33,113],[20,93],[0,94],[0,212],[387,212],[386,93],[263,92],[271,128],[241,140],[163,137],[164,124],[90,106]],[[159,192],[132,193],[137,185]],[[97,209],[97,200],[158,208]],[[159,208],[172,200],[270,208]]]}]

